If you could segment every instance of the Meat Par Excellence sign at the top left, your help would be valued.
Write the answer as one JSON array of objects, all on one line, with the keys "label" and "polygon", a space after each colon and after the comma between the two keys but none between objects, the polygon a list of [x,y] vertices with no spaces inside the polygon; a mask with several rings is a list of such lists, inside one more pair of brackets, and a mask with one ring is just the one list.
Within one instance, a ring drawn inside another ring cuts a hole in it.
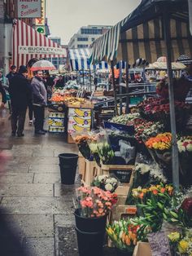
[{"label": "Meat Par Excellence sign at the top left", "polygon": [[18,18],[41,18],[41,0],[18,0]]}]

